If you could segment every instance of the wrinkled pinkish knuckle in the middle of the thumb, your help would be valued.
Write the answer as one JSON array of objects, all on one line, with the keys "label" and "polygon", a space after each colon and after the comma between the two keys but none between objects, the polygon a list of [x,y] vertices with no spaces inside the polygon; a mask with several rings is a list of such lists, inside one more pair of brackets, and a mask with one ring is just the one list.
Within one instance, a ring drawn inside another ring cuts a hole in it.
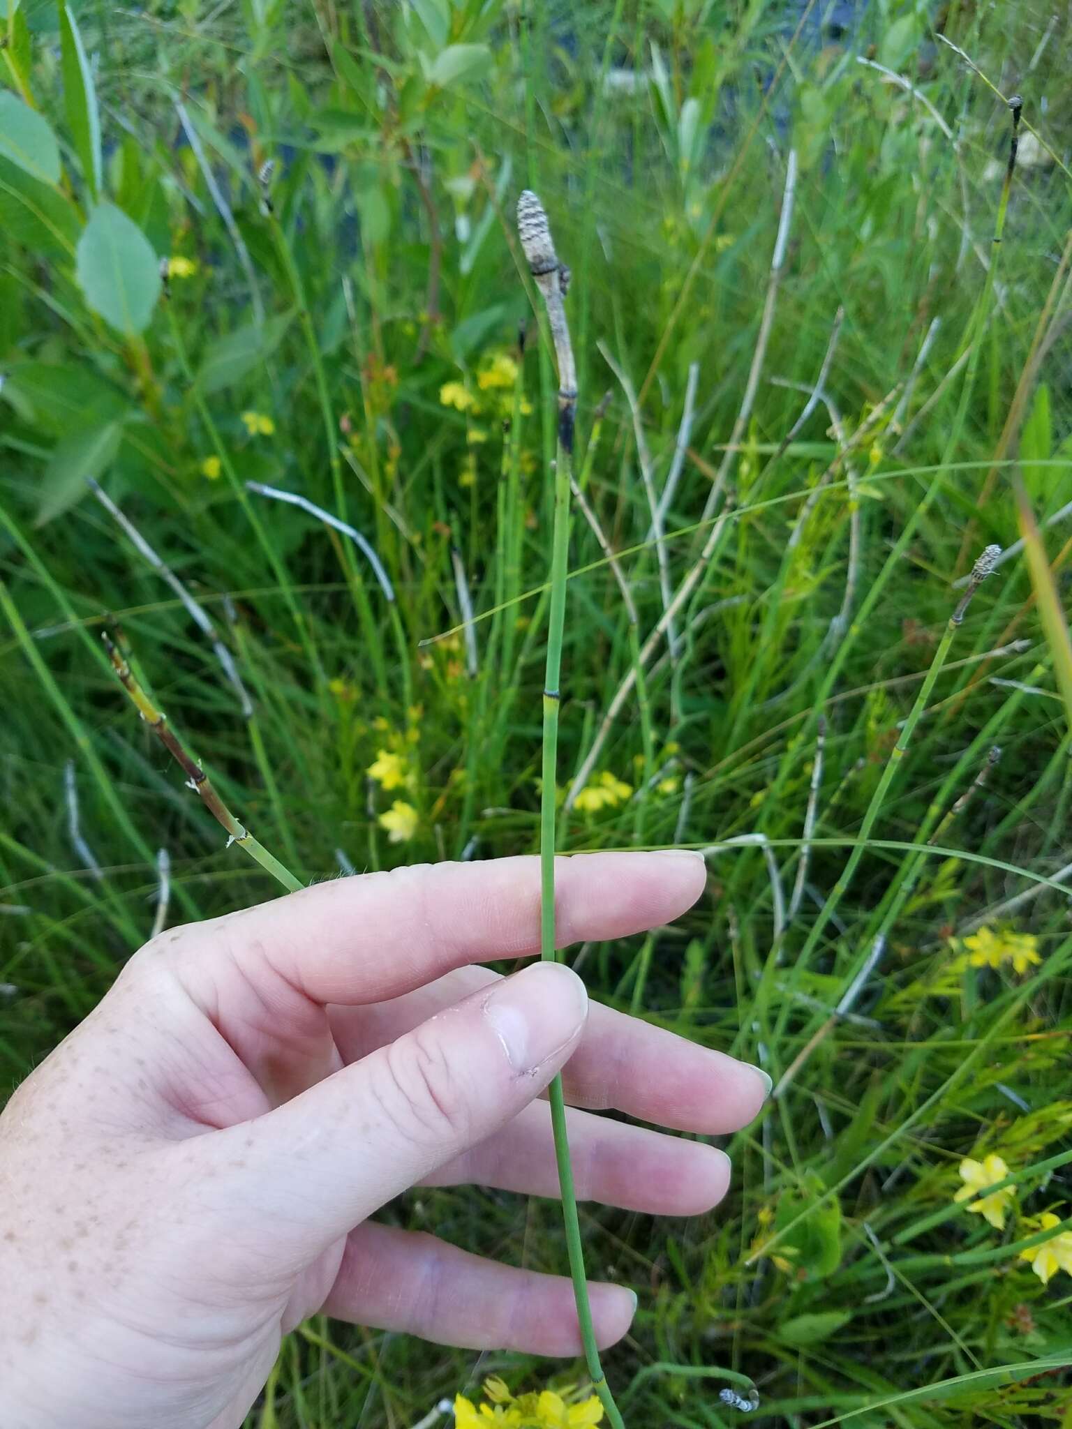
[{"label": "wrinkled pinkish knuckle in the middle of the thumb", "polygon": [[417,1027],[384,1049],[379,1099],[410,1142],[432,1149],[466,1143],[469,1099],[436,1032]]}]

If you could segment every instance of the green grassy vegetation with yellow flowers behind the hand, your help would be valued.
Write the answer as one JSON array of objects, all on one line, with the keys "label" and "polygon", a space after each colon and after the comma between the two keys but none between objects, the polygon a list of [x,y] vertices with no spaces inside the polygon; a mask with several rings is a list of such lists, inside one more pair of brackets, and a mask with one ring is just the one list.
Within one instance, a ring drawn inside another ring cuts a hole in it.
[{"label": "green grassy vegetation with yellow flowers behind the hand", "polygon": [[[0,24],[4,1086],[154,920],[276,892],[139,725],[109,616],[302,880],[536,847],[555,377],[513,237],[529,186],[573,270],[580,480],[636,607],[577,513],[567,775],[708,553],[562,842],[709,847],[709,893],[572,956],[778,1086],[715,1215],[585,1209],[592,1272],[640,1293],[607,1356],[626,1418],[730,1423],[728,1368],[755,1423],[1068,1429],[1072,1278],[1032,1260],[1049,1235],[1072,1266],[1039,1220],[1072,1209],[1072,767],[1022,554],[923,684],[952,583],[1021,533],[1013,472],[1039,522],[1072,500],[1068,16],[86,0]],[[662,554],[645,472],[656,504],[673,473]],[[386,582],[247,482],[353,523]],[[1042,539],[1066,590],[1068,524]],[[991,1219],[953,1199],[988,1156],[1015,1177]],[[553,1205],[390,1215],[565,1269]],[[492,1370],[556,1372],[314,1323],[250,1425],[413,1425]]]}]

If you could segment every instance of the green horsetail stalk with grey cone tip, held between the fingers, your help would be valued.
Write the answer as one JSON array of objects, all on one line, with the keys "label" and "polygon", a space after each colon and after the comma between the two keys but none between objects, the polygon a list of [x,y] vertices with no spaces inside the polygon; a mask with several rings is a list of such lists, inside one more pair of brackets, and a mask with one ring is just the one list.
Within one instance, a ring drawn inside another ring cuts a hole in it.
[{"label": "green horsetail stalk with grey cone tip, held between the fingers", "polygon": [[[573,470],[573,419],[577,402],[573,347],[566,324],[563,297],[569,286],[569,269],[559,263],[550,237],[547,214],[535,193],[526,190],[517,200],[517,233],[532,276],[547,307],[547,323],[559,364],[559,440],[555,462],[555,519],[550,556],[550,607],[547,613],[547,669],[543,682],[543,786],[540,790],[540,957],[555,962],[555,835],[556,835],[556,775],[559,753],[559,709],[562,706],[562,634],[566,623],[566,576],[569,564],[569,499]],[[580,1243],[577,1196],[573,1189],[573,1166],[566,1132],[566,1099],[562,1077],[549,1087],[550,1122],[555,1133],[555,1160],[559,1167],[562,1219],[566,1229],[569,1269],[577,1305],[577,1323],[585,1346],[585,1360],[592,1388],[599,1395],[612,1429],[625,1429],[610,1386],[599,1362],[599,1349],[587,1299],[585,1250]]]}]

